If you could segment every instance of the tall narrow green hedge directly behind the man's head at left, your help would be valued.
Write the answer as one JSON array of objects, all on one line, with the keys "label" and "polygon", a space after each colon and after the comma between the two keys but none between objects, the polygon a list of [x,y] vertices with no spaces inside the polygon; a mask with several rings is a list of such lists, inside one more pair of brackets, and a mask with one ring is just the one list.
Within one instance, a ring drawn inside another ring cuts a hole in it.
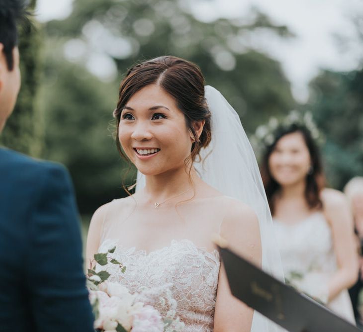
[{"label": "tall narrow green hedge directly behind the man's head at left", "polygon": [[[36,0],[31,0],[30,10]],[[40,76],[41,29],[35,20],[19,28],[21,89],[13,114],[7,120],[0,143],[33,157],[43,149],[44,122],[37,107],[36,92]]]}]

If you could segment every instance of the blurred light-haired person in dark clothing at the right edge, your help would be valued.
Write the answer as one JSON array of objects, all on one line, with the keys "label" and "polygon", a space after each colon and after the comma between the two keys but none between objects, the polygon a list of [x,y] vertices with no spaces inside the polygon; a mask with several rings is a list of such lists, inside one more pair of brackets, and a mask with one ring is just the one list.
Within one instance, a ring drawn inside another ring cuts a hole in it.
[{"label": "blurred light-haired person in dark clothing at the right edge", "polygon": [[363,257],[362,257],[362,245],[363,245],[363,177],[356,176],[352,178],[344,187],[353,212],[354,226],[357,240],[357,250],[360,253],[359,259],[359,276],[357,282],[349,289],[349,295],[351,296],[354,315],[356,317],[357,325],[363,327],[362,314],[360,310],[359,294],[363,289]]}]

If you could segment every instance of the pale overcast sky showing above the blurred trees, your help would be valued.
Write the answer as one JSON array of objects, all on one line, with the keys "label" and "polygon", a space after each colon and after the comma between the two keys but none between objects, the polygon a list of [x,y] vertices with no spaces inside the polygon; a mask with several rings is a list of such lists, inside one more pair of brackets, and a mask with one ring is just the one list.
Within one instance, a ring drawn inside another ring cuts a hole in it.
[{"label": "pale overcast sky showing above the blurred trees", "polygon": [[[253,5],[268,14],[274,23],[287,25],[296,34],[295,38],[281,40],[262,32],[254,35],[251,43],[281,62],[299,101],[306,100],[307,83],[319,68],[349,71],[362,61],[362,41],[357,38],[352,16],[359,12],[363,15],[363,0],[194,0],[192,3],[195,16],[203,21],[218,16],[245,17]],[[41,21],[65,18],[71,10],[72,0],[37,1]],[[339,43],[337,34],[348,42]]]}]

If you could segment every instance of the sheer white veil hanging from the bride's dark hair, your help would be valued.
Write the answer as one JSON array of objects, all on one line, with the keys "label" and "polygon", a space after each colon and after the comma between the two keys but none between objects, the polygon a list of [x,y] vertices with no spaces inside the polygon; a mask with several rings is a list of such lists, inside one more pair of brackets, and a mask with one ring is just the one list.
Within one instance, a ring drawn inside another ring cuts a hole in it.
[{"label": "sheer white veil hanging from the bride's dark hair", "polygon": [[[201,161],[194,163],[200,177],[226,196],[243,201],[257,214],[262,242],[262,269],[283,280],[280,255],[275,243],[272,217],[256,157],[240,118],[223,95],[205,86],[212,118],[211,143],[200,152]],[[138,173],[137,190],[145,185]],[[255,312],[252,332],[283,331]]]}]

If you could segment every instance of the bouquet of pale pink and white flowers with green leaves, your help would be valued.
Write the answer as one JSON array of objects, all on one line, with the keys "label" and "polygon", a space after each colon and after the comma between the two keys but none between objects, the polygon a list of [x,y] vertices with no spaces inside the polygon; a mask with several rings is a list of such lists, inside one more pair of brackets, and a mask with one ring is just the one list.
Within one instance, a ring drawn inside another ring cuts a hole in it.
[{"label": "bouquet of pale pink and white flowers with green leaves", "polygon": [[87,284],[95,317],[94,328],[104,332],[181,332],[184,324],[175,317],[175,311],[163,318],[154,307],[138,301],[138,294],[131,294],[120,283],[108,281],[110,273],[105,269],[96,271],[96,264],[115,264],[122,273],[126,272],[126,266],[109,257],[109,253],[115,250],[116,247],[113,247],[108,252],[96,253],[88,269]]}]

